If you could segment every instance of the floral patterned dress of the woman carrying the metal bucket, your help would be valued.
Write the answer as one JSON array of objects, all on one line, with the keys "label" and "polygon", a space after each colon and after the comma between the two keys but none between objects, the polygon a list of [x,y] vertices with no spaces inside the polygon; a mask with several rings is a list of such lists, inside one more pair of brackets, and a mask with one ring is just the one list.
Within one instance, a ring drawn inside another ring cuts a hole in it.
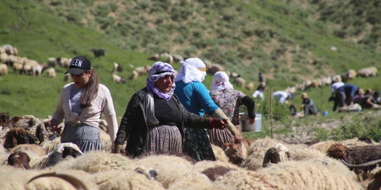
[{"label": "floral patterned dress of the woman carrying the metal bucket", "polygon": [[[227,118],[235,125],[239,132],[242,132],[239,124],[239,106],[242,98],[246,95],[239,90],[232,88],[218,90],[210,93],[210,97],[216,105],[222,109]],[[222,146],[224,143],[234,143],[234,135],[227,129],[208,129],[210,142],[216,146]],[[240,146],[241,144],[239,144]]]}]

